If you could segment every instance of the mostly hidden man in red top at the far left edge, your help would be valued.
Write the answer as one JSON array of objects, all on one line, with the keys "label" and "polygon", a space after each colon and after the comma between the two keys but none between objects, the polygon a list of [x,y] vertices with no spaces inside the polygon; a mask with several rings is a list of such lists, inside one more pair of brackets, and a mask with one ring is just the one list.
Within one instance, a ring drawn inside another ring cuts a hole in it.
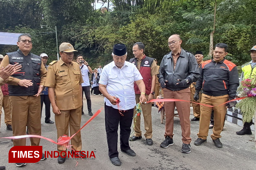
[{"label": "mostly hidden man in red top at the far left edge", "polygon": [[[3,61],[3,55],[0,55],[0,64]],[[4,123],[6,124],[6,130],[12,131],[12,120],[11,120],[11,108],[10,108],[10,101],[9,101],[9,90],[8,84],[3,84],[1,86],[3,92],[3,111],[4,111]],[[0,111],[2,113],[2,111]],[[1,114],[0,114],[1,117]],[[1,118],[0,118],[1,120]]]}]

